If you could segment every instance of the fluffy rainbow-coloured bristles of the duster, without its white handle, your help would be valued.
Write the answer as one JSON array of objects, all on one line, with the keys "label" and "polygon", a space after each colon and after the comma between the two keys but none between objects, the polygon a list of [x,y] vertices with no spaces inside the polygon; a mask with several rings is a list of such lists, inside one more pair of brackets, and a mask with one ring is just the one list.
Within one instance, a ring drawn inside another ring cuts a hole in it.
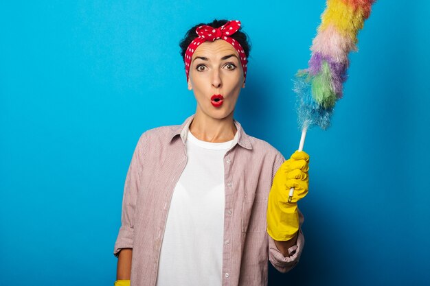
[{"label": "fluffy rainbow-coloured bristles of the duster, without its white handle", "polygon": [[295,76],[299,128],[330,126],[333,108],[343,95],[348,53],[357,51],[357,34],[376,0],[328,0],[310,47],[308,69]]}]

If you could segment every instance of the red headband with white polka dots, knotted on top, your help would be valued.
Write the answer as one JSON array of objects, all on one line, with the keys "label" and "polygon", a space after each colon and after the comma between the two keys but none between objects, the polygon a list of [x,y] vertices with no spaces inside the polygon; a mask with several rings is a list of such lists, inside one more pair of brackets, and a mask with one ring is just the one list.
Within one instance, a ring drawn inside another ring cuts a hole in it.
[{"label": "red headband with white polka dots, knotted on top", "polygon": [[230,43],[236,51],[239,53],[240,63],[242,64],[243,69],[243,76],[246,80],[247,78],[247,56],[245,55],[245,52],[242,49],[242,46],[239,44],[237,40],[234,38],[231,38],[230,36],[234,33],[236,33],[240,29],[240,21],[228,21],[224,25],[222,25],[219,28],[214,28],[207,25],[199,26],[196,29],[196,33],[199,35],[199,37],[192,40],[190,45],[188,45],[187,50],[185,51],[185,73],[187,74],[187,82],[188,82],[188,73],[190,72],[190,64],[191,64],[191,58],[194,51],[199,47],[201,43],[204,43],[207,40],[214,40],[217,39],[223,39],[227,43]]}]

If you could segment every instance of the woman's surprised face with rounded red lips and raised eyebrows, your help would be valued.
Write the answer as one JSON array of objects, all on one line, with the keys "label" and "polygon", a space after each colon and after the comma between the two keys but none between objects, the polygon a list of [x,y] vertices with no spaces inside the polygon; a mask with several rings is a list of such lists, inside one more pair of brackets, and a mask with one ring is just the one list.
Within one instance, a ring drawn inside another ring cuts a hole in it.
[{"label": "woman's surprised face with rounded red lips and raised eyebrows", "polygon": [[[231,115],[244,80],[239,54],[225,40],[206,41],[194,51],[188,89],[194,91],[196,112],[214,119]],[[222,102],[214,95],[222,95]]]}]

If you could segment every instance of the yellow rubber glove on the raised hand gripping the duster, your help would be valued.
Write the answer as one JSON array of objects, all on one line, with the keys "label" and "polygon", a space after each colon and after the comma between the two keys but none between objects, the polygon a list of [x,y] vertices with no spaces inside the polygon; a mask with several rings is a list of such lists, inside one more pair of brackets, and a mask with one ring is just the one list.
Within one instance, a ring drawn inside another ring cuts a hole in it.
[{"label": "yellow rubber glove on the raised hand gripping the duster", "polygon": [[[297,201],[308,193],[309,155],[296,151],[282,163],[273,178],[267,202],[267,233],[277,241],[292,239],[299,230]],[[290,189],[294,187],[291,202]]]}]

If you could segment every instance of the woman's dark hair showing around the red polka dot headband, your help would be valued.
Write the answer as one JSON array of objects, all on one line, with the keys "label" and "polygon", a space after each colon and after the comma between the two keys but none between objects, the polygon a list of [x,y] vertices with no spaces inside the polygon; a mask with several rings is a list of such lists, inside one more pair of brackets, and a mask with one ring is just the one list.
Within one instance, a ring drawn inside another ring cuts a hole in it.
[{"label": "woman's dark hair showing around the red polka dot headband", "polygon": [[[181,40],[181,42],[179,43],[179,47],[181,47],[181,56],[182,59],[185,60],[185,51],[188,48],[188,45],[190,45],[190,43],[192,42],[192,40],[194,40],[195,38],[197,38],[197,34],[196,34],[196,29],[197,27],[201,26],[201,25],[208,25],[214,28],[219,28],[222,25],[224,25],[225,23],[227,23],[227,20],[214,20],[212,21],[212,23],[200,23],[197,25],[194,25],[194,27],[192,27],[191,29],[189,29],[187,31],[187,34],[185,34],[185,37]],[[247,36],[247,34],[245,34],[245,32],[241,31],[242,27],[240,27],[240,29],[238,29],[238,31],[234,34],[231,35],[231,38],[234,38],[235,40],[237,40],[240,45],[242,46],[243,51],[245,52],[245,55],[249,56],[249,51],[251,50],[251,43],[249,43],[249,36]]]}]

